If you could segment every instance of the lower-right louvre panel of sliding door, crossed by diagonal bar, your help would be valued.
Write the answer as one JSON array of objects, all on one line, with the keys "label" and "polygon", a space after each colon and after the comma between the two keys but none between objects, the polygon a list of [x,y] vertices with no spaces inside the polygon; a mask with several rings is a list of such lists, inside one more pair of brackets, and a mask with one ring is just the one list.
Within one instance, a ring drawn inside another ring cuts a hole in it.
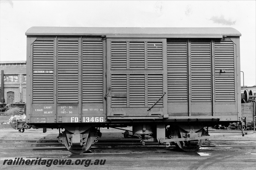
[{"label": "lower-right louvre panel of sliding door, crossed by diagonal bar", "polygon": [[[163,95],[163,75],[148,74],[148,106],[152,106]],[[163,107],[163,98],[156,103]]]}]

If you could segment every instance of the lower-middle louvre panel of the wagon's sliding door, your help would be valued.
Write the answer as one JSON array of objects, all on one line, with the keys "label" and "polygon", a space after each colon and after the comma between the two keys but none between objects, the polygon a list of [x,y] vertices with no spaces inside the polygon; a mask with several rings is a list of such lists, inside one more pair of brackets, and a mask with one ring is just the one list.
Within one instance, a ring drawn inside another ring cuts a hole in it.
[{"label": "lower-middle louvre panel of the wagon's sliding door", "polygon": [[145,75],[130,75],[130,107],[145,107]]}]

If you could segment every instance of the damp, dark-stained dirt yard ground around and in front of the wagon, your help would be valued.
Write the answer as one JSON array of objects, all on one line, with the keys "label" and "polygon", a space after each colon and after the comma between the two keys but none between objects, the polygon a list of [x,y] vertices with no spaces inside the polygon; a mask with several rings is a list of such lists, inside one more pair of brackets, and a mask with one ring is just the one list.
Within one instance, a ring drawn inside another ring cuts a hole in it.
[{"label": "damp, dark-stained dirt yard ground around and in front of the wagon", "polygon": [[[8,122],[8,117],[0,116],[0,122]],[[124,129],[131,130],[131,127]],[[101,140],[104,139],[124,139],[122,130],[112,128],[101,128]],[[0,139],[57,139],[59,131],[57,129],[47,129],[43,133],[42,129],[26,129],[24,133],[18,133],[9,124],[0,124]],[[209,134],[220,135],[210,131]],[[229,133],[225,133],[229,134]],[[91,153],[72,154],[65,148],[61,150],[17,150],[19,147],[35,147],[33,142],[19,141],[8,144],[2,141],[0,144],[0,169],[34,170],[34,169],[196,169],[196,170],[241,170],[254,169],[256,167],[256,133],[234,137],[219,137],[207,140],[203,147],[196,152],[180,152],[175,147],[156,147],[156,148],[108,148],[98,149]],[[16,150],[15,150],[16,148]],[[23,155],[23,156],[22,156]],[[27,156],[24,156],[27,155]],[[29,155],[29,156],[28,156]],[[4,159],[70,159],[72,163],[76,160],[105,159],[104,165],[90,164],[82,165],[3,165]]]}]

